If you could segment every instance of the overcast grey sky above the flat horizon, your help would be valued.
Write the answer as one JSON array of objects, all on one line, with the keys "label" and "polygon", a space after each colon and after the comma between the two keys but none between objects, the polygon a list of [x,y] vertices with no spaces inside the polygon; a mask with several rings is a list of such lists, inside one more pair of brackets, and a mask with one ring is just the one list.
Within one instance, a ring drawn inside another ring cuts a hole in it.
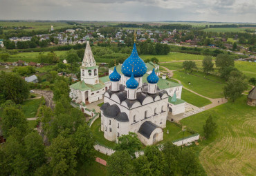
[{"label": "overcast grey sky above the flat horizon", "polygon": [[0,0],[0,19],[256,23],[256,0]]}]

